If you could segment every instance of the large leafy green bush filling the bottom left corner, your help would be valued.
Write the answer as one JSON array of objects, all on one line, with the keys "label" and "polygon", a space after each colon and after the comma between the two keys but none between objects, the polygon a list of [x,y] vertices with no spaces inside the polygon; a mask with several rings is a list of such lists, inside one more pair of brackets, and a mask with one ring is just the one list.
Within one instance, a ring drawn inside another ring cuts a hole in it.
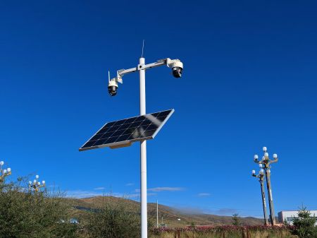
[{"label": "large leafy green bush filling the bottom left corner", "polygon": [[32,193],[22,182],[0,184],[0,238],[75,238],[77,227],[61,196]]}]

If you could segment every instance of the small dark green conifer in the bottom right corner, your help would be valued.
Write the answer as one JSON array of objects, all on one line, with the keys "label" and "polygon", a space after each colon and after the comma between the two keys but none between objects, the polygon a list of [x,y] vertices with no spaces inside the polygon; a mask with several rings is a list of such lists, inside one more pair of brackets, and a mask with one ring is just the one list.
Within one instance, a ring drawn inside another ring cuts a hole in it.
[{"label": "small dark green conifer in the bottom right corner", "polygon": [[315,222],[315,216],[312,216],[309,210],[306,210],[306,207],[302,206],[298,210],[298,217],[293,218],[293,233],[299,238],[317,238]]}]

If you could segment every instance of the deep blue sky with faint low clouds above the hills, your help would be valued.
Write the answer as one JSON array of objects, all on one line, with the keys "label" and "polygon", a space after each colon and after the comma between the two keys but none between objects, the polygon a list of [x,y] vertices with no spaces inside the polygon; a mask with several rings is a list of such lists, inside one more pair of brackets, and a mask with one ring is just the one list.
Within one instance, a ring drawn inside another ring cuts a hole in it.
[{"label": "deep blue sky with faint low clouds above the hills", "polygon": [[118,95],[107,71],[147,71],[147,112],[175,113],[148,142],[149,201],[261,216],[254,153],[268,147],[275,211],[317,208],[316,1],[0,3],[0,157],[69,196],[138,199],[139,145],[78,152],[106,121],[139,113],[137,73]]}]

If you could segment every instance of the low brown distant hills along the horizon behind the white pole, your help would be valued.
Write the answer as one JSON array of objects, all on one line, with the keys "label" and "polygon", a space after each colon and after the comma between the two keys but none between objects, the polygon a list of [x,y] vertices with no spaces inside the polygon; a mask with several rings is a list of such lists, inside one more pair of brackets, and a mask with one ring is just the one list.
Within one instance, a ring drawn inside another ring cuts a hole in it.
[{"label": "low brown distant hills along the horizon behind the white pole", "polygon": [[[123,203],[125,208],[133,213],[140,213],[140,203],[125,198],[113,196],[95,196],[92,198],[66,198],[73,206],[73,213],[81,219],[85,219],[88,211],[93,211],[104,203],[116,204]],[[148,203],[148,217],[156,224],[156,203]],[[159,204],[159,224],[162,222],[170,227],[183,227],[186,225],[231,225],[230,216],[210,215],[204,213],[189,214],[185,211],[171,208]],[[180,219],[180,220],[178,220]],[[262,225],[263,220],[259,218],[240,218],[242,225]]]}]

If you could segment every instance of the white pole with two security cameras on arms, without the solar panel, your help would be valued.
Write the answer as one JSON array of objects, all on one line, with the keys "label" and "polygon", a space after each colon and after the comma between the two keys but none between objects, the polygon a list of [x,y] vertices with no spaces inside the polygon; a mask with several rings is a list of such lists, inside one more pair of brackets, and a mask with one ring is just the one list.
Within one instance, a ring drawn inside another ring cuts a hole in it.
[{"label": "white pole with two security cameras on arms, without the solar panel", "polygon": [[[172,69],[173,76],[182,76],[183,64],[179,59],[161,59],[151,64],[145,64],[143,56],[139,58],[139,64],[131,69],[120,69],[116,78],[110,79],[108,73],[108,93],[111,96],[117,94],[118,83],[123,83],[122,77],[128,73],[139,71],[139,114],[146,114],[145,98],[145,70],[159,66],[168,66]],[[141,175],[141,237],[147,238],[147,141],[140,141],[140,175]]]}]

